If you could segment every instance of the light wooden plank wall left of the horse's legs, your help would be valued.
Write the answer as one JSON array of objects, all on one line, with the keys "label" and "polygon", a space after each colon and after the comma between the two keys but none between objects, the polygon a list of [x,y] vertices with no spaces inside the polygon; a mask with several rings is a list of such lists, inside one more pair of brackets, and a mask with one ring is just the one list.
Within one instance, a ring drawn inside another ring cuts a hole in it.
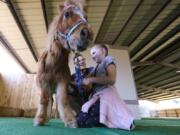
[{"label": "light wooden plank wall left of the horse's legs", "polygon": [[37,108],[39,94],[34,74],[0,75],[0,107]]}]

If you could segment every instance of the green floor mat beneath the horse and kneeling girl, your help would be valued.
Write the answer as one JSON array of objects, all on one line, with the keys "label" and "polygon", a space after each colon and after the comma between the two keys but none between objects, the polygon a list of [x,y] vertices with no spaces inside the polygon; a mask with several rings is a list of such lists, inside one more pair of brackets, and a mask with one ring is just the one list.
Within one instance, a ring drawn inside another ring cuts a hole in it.
[{"label": "green floor mat beneath the horse and kneeling girl", "polygon": [[180,135],[180,120],[137,120],[133,131],[108,128],[70,129],[57,119],[42,127],[32,125],[33,119],[0,118],[0,135]]}]

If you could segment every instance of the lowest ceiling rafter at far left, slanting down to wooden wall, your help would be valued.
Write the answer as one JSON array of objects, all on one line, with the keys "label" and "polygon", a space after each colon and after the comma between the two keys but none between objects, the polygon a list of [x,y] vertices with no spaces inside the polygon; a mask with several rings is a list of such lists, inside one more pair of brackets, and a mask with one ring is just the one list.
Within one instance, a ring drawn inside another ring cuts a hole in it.
[{"label": "lowest ceiling rafter at far left, slanting down to wooden wall", "polygon": [[9,45],[9,42],[5,39],[3,34],[0,32],[0,42],[2,45],[8,50],[8,52],[14,57],[14,59],[19,63],[19,65],[24,69],[26,73],[30,73],[29,69],[25,66],[25,64],[20,60],[20,58],[17,56],[17,54],[14,52],[14,50],[11,48],[11,45]]}]

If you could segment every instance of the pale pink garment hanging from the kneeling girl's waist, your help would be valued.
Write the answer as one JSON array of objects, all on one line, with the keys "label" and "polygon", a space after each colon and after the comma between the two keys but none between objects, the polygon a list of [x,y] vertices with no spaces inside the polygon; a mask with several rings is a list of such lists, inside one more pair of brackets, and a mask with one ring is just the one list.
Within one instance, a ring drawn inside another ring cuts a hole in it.
[{"label": "pale pink garment hanging from the kneeling girl's waist", "polygon": [[100,99],[100,123],[109,128],[130,130],[130,126],[134,120],[133,115],[124,101],[118,96],[115,87],[109,86],[97,92],[82,106],[82,111],[88,112],[89,108],[98,99]]}]

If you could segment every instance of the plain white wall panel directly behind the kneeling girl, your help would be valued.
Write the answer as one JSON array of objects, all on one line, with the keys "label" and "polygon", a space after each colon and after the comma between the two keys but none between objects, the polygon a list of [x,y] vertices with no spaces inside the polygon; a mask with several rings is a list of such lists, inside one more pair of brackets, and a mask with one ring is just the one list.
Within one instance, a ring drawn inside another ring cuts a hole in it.
[{"label": "plain white wall panel directly behind the kneeling girl", "polygon": [[116,88],[119,96],[126,102],[135,119],[140,119],[139,103],[136,92],[136,86],[127,49],[111,49],[117,62],[117,80]]}]

